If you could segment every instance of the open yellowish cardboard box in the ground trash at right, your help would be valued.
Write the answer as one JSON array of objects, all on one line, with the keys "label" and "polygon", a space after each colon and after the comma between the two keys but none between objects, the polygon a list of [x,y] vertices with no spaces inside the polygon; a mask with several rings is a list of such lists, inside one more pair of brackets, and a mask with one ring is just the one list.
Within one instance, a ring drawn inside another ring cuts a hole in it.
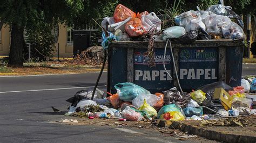
[{"label": "open yellowish cardboard box in the ground trash at right", "polygon": [[[225,110],[230,110],[232,105],[233,97],[230,96],[223,88],[215,88],[213,98],[212,99],[220,99],[222,104],[225,104]],[[224,107],[225,107],[224,105]]]}]

